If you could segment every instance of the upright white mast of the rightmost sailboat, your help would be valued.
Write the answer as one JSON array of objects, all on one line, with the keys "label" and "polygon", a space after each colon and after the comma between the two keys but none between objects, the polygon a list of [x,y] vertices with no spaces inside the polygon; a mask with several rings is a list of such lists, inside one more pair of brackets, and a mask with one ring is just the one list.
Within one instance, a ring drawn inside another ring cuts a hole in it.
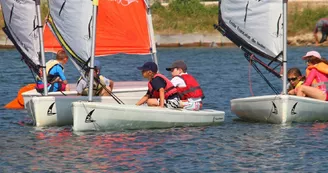
[{"label": "upright white mast of the rightmost sailboat", "polygon": [[288,0],[283,0],[283,18],[284,18],[284,36],[283,36],[283,82],[282,82],[282,94],[287,93],[287,2]]}]

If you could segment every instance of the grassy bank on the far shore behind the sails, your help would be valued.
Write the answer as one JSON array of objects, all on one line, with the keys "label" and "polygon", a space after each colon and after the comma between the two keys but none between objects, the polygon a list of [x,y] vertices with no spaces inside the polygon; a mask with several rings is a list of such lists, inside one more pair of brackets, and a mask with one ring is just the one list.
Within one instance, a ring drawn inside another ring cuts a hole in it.
[{"label": "grassy bank on the far shore behind the sails", "polygon": [[[48,12],[45,3],[42,4],[41,11],[44,18]],[[199,0],[175,0],[164,7],[155,2],[152,5],[152,14],[156,34],[218,33],[213,29],[213,24],[218,22],[217,5],[204,6]],[[290,3],[288,34],[312,32],[315,23],[322,17],[328,17],[327,6],[298,7],[297,4]],[[0,22],[3,26],[2,15]]]}]

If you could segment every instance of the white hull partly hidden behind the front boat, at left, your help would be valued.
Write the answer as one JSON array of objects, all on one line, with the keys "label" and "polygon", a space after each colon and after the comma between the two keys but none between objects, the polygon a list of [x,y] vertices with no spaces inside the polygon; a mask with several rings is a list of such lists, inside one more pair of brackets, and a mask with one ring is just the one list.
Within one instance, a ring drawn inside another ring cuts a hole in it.
[{"label": "white hull partly hidden behind the front boat, at left", "polygon": [[[124,104],[137,103],[147,91],[147,83],[144,81],[117,83],[113,93]],[[67,96],[34,96],[29,98],[25,108],[37,127],[72,125],[71,104],[79,100],[87,101],[88,96],[77,96],[76,94]],[[105,104],[118,104],[111,96],[93,97],[93,100]]]}]

